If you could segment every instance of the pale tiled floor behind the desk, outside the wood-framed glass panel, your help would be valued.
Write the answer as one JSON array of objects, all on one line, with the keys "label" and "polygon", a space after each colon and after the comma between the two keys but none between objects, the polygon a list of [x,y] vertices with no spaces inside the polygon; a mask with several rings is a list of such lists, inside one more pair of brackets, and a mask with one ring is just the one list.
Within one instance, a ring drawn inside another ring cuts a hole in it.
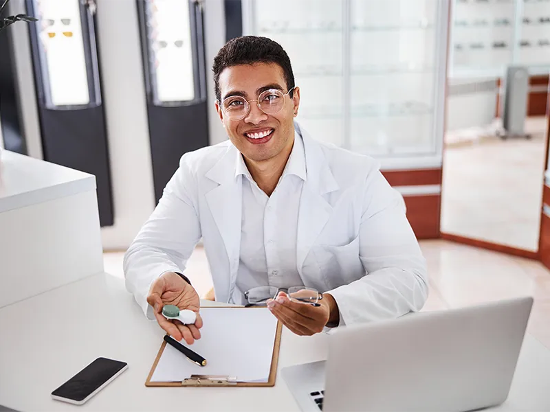
[{"label": "pale tiled floor behind the desk, outside the wood-framed glass panel", "polygon": [[[430,297],[423,310],[531,295],[535,304],[528,330],[550,348],[550,271],[542,264],[444,240],[420,244],[430,275]],[[106,272],[124,276],[122,253],[105,253],[104,265]],[[212,287],[203,249],[192,254],[186,275],[201,296]]]}]

